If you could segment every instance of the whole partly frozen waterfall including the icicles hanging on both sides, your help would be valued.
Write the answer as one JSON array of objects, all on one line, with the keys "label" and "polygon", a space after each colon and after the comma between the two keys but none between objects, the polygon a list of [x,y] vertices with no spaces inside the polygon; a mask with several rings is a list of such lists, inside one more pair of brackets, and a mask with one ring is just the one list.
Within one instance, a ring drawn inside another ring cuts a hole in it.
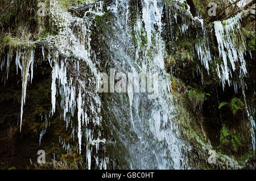
[{"label": "whole partly frozen waterfall including the icicles hanging on both sides", "polygon": [[[188,166],[187,155],[192,146],[181,136],[179,110],[171,90],[172,73],[167,73],[165,65],[172,50],[167,52],[163,37],[165,26],[170,31],[171,44],[194,26],[195,54],[208,75],[210,66],[216,64],[213,71],[223,90],[226,82],[229,86],[233,83],[235,92],[242,89],[255,150],[255,120],[246,104],[243,81],[247,75],[245,40],[236,37],[237,33],[241,35],[241,14],[213,23],[217,57],[211,53],[212,39],[203,19],[192,16],[185,0],[172,2],[167,7],[161,0],[141,0],[141,4],[134,0],[114,0],[109,4],[96,1],[79,18],[64,10],[59,1],[50,1],[49,17],[57,33],[46,37],[42,56],[52,68],[52,109],[45,116],[46,127],[40,133],[39,144],[49,126],[48,119],[59,112],[66,128],[72,130],[73,141],[77,141],[77,154],[86,155],[87,169],[115,168],[114,151],[109,151],[112,148],[120,149],[117,154],[127,162],[126,169],[195,169]],[[163,23],[163,16],[167,17],[167,24]],[[33,78],[34,51],[16,50],[16,71],[22,72],[20,131],[27,83]],[[8,53],[0,65],[3,70],[6,64],[7,78],[10,56]],[[97,91],[102,71],[110,77],[110,92]],[[240,82],[233,79],[236,73]],[[125,90],[111,90],[126,75]],[[70,142],[59,137],[59,143],[71,153]],[[201,145],[205,153],[212,149],[210,144]]]}]

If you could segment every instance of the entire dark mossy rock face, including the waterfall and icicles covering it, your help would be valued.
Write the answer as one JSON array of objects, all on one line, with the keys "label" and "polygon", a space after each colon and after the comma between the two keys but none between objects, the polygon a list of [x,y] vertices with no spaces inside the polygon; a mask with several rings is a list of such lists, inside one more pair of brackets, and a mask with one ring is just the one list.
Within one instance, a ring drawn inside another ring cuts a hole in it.
[{"label": "entire dark mossy rock face, including the waterfall and icicles covering it", "polygon": [[1,168],[255,168],[255,31],[242,14],[204,22],[206,2],[54,0],[16,18],[0,37]]}]

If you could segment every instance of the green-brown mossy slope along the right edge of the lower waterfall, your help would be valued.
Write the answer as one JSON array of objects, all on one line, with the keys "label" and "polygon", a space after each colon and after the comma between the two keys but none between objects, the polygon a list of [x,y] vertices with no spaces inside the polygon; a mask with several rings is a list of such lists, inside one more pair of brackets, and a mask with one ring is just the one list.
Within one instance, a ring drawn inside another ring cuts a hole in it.
[{"label": "green-brown mossy slope along the right edge of the lower waterfall", "polygon": [[[243,161],[249,158],[252,152],[245,154],[243,160],[234,157],[233,155],[226,155],[221,150],[216,150],[217,161],[216,164],[207,162],[208,150],[214,148],[210,144],[208,137],[205,134],[204,118],[200,110],[191,111],[188,107],[188,86],[180,79],[171,77],[172,80],[172,95],[174,95],[174,105],[176,107],[176,121],[179,123],[179,132],[181,137],[185,140],[191,151],[184,152],[188,158],[188,165],[197,169],[241,169],[242,167],[250,167],[250,163],[243,165]],[[200,93],[201,98],[201,93]],[[234,131],[233,131],[234,132]],[[232,133],[233,134],[233,133]],[[237,134],[236,134],[237,135]],[[231,140],[230,140],[231,141]],[[242,144],[245,144],[244,142]],[[216,148],[215,148],[216,149]],[[251,159],[251,158],[250,158]]]}]

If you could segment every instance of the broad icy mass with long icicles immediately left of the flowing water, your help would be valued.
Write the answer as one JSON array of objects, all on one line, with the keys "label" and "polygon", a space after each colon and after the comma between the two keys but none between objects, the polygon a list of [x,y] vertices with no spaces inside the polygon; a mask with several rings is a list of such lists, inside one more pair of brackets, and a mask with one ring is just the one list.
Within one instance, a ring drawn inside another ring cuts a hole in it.
[{"label": "broad icy mass with long icicles immediately left of the flowing water", "polygon": [[[89,9],[88,12],[102,15],[102,2],[99,2],[96,6],[97,11]],[[74,18],[67,11],[61,9],[57,1],[51,1],[49,14],[52,19],[56,20],[54,26],[60,30],[56,36],[47,37],[48,43],[57,47],[57,52],[49,52],[48,54],[48,61],[52,66],[52,114],[56,111],[56,96],[59,90],[60,107],[63,110],[62,116],[67,123],[67,127],[70,123],[72,124],[72,117],[77,112],[77,127],[73,128],[72,135],[74,136],[75,131],[77,132],[80,154],[82,145],[87,145],[86,158],[88,169],[90,169],[91,157],[94,153],[93,147],[97,154],[100,143],[105,144],[105,140],[100,138],[101,135],[98,134],[97,130],[101,126],[102,119],[100,116],[100,96],[96,90],[89,87],[96,86],[98,73],[95,65],[98,60],[92,58],[90,48],[90,26],[92,26],[93,21],[86,16],[84,18]],[[43,49],[42,52],[44,52]],[[63,56],[72,56],[72,58],[62,58]],[[82,79],[81,65],[89,69],[92,78]],[[72,72],[76,73],[73,74]],[[94,129],[97,131],[94,131]],[[65,149],[68,150],[69,145]],[[96,166],[101,168],[102,165],[105,165],[104,168],[106,169],[105,162],[108,158],[103,155],[100,160],[101,164],[97,163]]]}]

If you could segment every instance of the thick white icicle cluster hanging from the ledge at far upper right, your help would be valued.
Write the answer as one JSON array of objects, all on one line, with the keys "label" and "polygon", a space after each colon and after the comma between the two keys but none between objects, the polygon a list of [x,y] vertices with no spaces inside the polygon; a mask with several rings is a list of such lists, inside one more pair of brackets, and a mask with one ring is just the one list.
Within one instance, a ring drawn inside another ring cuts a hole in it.
[{"label": "thick white icicle cluster hanging from the ledge at far upper right", "polygon": [[[243,58],[245,53],[245,41],[243,40],[240,32],[240,19],[241,14],[237,14],[233,18],[225,20],[223,22],[214,22],[215,35],[218,41],[218,51],[220,53],[220,59],[222,64],[217,64],[218,77],[222,80],[222,86],[225,87],[225,81],[228,81],[230,86],[230,77],[232,77],[232,70],[236,70],[236,62],[240,62],[239,72],[242,71],[244,75],[247,74],[246,62]],[[224,25],[223,25],[224,24]],[[241,37],[241,40],[238,38]],[[235,43],[238,39],[238,42]],[[228,60],[230,65],[228,64]],[[221,70],[220,70],[221,69]]]}]

